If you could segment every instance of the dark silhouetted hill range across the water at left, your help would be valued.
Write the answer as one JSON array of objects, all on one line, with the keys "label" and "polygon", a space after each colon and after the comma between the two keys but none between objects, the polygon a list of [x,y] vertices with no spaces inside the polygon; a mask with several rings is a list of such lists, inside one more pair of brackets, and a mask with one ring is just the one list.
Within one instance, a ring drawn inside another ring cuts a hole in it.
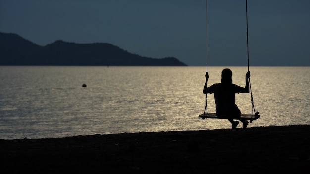
[{"label": "dark silhouetted hill range across the water at left", "polygon": [[58,40],[40,46],[17,34],[2,32],[0,65],[187,66],[174,57],[142,57],[108,43],[76,44]]}]

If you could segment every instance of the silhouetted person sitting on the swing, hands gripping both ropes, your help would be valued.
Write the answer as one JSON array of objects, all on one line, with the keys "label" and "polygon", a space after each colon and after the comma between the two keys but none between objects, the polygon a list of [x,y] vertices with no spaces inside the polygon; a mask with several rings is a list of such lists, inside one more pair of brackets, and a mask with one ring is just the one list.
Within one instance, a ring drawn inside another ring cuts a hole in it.
[{"label": "silhouetted person sitting on the swing, hands gripping both ropes", "polygon": [[207,81],[209,80],[209,74],[206,73],[206,83],[204,87],[204,94],[214,93],[216,115],[219,118],[227,118],[232,125],[232,128],[236,128],[239,124],[238,121],[233,119],[239,119],[243,124],[242,127],[246,128],[249,122],[246,119],[241,119],[241,112],[238,106],[235,104],[235,93],[249,93],[249,78],[250,71],[246,74],[246,86],[240,87],[232,83],[232,72],[226,68],[222,71],[221,83],[213,84],[207,87]]}]

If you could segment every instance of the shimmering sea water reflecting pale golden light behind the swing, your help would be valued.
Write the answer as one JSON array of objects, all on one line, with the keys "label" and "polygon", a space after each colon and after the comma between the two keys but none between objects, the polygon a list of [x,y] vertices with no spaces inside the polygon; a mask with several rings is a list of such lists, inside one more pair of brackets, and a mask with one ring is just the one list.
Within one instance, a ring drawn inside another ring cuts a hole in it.
[{"label": "shimmering sea water reflecting pale golden light behind the swing", "polygon": [[[248,67],[223,68],[244,87]],[[310,67],[250,67],[256,111],[248,127],[310,124]],[[0,67],[0,139],[51,138],[123,132],[230,129],[204,113],[206,67]],[[82,87],[87,84],[87,87]],[[215,112],[208,95],[208,112]],[[251,114],[250,94],[236,94]],[[241,128],[241,124],[238,126]]]}]

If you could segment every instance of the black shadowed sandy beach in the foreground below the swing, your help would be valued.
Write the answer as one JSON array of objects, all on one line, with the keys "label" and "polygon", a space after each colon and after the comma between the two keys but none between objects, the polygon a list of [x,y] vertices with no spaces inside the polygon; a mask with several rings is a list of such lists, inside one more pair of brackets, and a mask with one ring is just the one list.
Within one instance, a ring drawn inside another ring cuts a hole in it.
[{"label": "black shadowed sandy beach in the foreground below the swing", "polygon": [[0,140],[1,173],[310,173],[310,125]]}]

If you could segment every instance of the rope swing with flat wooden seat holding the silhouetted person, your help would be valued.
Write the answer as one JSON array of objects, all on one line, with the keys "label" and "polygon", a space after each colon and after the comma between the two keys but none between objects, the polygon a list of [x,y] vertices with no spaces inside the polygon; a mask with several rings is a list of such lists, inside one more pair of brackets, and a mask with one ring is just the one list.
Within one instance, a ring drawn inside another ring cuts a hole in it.
[{"label": "rope swing with flat wooden seat holding the silhouetted person", "polygon": [[[248,2],[247,2],[247,0],[246,0],[246,12],[247,12],[247,48],[248,48],[248,71],[249,71],[249,37],[248,37]],[[207,52],[208,52],[208,50],[207,50]],[[208,72],[208,56],[207,56],[207,72]],[[251,114],[241,114],[240,117],[233,118],[233,119],[250,120],[250,123],[252,123],[253,120],[260,118],[260,115],[259,115],[259,112],[255,112],[250,78],[249,78],[249,87],[250,87],[251,103],[252,103]],[[216,113],[208,113],[207,112],[207,93],[206,93],[205,103],[206,103],[205,104],[205,111],[203,114],[198,116],[199,118],[201,118],[201,119],[207,119],[207,118],[227,119],[227,117],[217,117]],[[253,112],[255,113],[254,115],[253,115]]]}]

